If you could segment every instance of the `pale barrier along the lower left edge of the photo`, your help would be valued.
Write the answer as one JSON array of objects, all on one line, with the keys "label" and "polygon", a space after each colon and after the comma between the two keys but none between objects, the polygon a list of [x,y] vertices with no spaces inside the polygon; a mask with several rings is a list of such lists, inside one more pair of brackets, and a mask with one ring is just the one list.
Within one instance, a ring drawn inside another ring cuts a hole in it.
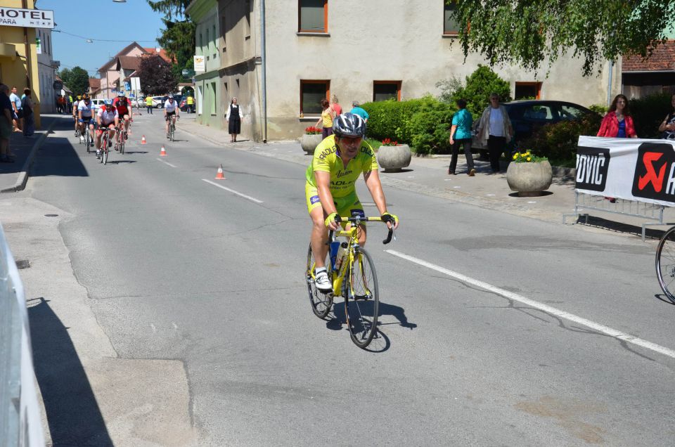
[{"label": "pale barrier along the lower left edge of the photo", "polygon": [[44,446],[23,283],[0,225],[0,444]]}]

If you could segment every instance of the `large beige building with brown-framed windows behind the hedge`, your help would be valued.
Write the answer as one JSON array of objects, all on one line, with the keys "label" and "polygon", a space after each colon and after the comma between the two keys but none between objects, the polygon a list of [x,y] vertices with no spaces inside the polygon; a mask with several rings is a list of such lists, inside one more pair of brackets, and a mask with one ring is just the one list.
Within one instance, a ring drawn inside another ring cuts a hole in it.
[{"label": "large beige building with brown-framed windows behind the hedge", "polygon": [[[220,90],[210,97],[213,89],[204,89],[203,103],[220,103],[220,94],[227,105],[236,96],[245,113],[242,134],[256,140],[297,138],[319,118],[323,98],[338,96],[349,110],[352,101],[436,95],[437,82],[463,80],[479,64],[487,65],[477,54],[464,58],[452,6],[444,0],[429,0],[424,8],[406,0],[389,0],[386,6],[362,0],[266,1],[263,61],[260,1],[219,0],[214,5],[194,0],[188,7],[193,19],[198,9],[200,18],[208,16],[213,22],[217,16],[212,30],[221,30],[218,37],[213,31],[202,32],[201,39],[198,32],[196,39],[195,54],[220,58]],[[210,13],[205,12],[207,6]],[[620,63],[605,63],[593,77],[581,75],[582,65],[581,60],[563,55],[550,70],[543,64],[538,72],[515,66],[494,71],[510,83],[513,97],[588,106],[605,104],[610,94],[619,93]],[[211,75],[209,82],[217,84]],[[225,127],[224,118],[215,121]]]}]

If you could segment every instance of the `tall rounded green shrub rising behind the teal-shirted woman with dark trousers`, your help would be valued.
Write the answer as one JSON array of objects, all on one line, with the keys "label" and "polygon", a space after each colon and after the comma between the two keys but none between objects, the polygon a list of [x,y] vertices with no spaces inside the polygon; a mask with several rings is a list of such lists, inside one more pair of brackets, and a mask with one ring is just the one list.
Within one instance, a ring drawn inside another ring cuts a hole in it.
[{"label": "tall rounded green shrub rising behind the teal-shirted woman with dark trousers", "polygon": [[453,77],[438,82],[436,87],[441,89],[439,101],[454,105],[455,102],[463,98],[466,100],[466,109],[471,115],[480,118],[483,110],[489,105],[491,93],[499,94],[501,102],[511,101],[511,86],[498,74],[485,65],[478,65],[478,68],[466,77],[466,84]]}]

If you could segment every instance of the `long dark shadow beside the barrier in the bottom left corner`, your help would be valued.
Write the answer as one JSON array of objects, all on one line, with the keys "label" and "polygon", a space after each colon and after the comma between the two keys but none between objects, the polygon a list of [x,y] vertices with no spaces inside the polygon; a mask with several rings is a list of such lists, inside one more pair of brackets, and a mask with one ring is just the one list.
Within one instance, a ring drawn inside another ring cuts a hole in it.
[{"label": "long dark shadow beside the barrier in the bottom left corner", "polygon": [[94,392],[68,335],[69,328],[52,311],[49,300],[38,298],[27,304],[35,377],[53,445],[113,446]]}]

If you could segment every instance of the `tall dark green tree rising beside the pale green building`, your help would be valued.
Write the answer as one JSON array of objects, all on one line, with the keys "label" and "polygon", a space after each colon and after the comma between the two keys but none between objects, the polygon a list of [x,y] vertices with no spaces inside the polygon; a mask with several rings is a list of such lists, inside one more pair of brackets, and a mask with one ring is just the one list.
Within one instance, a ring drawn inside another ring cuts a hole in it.
[{"label": "tall dark green tree rising beside the pale green building", "polygon": [[166,29],[158,42],[174,60],[172,71],[176,79],[180,79],[182,70],[194,67],[195,24],[185,16],[190,3],[191,0],[148,0],[153,11],[164,14],[162,22]]}]

